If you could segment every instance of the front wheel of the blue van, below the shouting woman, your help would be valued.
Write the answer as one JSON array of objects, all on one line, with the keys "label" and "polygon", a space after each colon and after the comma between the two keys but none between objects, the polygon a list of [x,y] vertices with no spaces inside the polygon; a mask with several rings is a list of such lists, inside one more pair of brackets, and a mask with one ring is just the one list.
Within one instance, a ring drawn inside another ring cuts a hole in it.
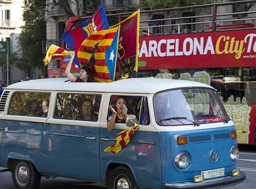
[{"label": "front wheel of the blue van, below the shouting woman", "polygon": [[138,189],[138,185],[134,179],[134,175],[129,168],[124,166],[119,166],[114,169],[109,177],[108,188],[109,189],[118,189],[117,185],[124,183],[129,185],[129,189]]}]

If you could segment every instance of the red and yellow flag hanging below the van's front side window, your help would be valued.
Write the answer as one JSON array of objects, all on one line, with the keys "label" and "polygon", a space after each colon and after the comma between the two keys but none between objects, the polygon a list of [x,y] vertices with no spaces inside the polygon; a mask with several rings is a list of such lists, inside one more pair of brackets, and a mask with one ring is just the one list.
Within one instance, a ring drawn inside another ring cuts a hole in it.
[{"label": "red and yellow flag hanging below the van's front side window", "polygon": [[132,136],[134,135],[134,132],[137,131],[138,124],[134,124],[134,127],[132,129],[126,129],[122,132],[119,132],[119,134],[116,135],[116,143],[111,145],[108,148],[105,148],[104,151],[111,151],[113,153],[119,153],[126,145],[132,140]]}]

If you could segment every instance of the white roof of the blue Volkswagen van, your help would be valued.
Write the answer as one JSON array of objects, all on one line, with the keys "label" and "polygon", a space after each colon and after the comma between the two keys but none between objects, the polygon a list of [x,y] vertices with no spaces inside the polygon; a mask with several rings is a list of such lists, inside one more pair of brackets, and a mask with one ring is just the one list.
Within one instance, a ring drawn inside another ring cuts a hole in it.
[{"label": "white roof of the blue Volkswagen van", "polygon": [[47,90],[79,92],[125,92],[155,94],[166,89],[179,87],[210,87],[207,84],[179,79],[130,78],[114,82],[65,82],[67,78],[35,79],[17,82],[6,90]]}]

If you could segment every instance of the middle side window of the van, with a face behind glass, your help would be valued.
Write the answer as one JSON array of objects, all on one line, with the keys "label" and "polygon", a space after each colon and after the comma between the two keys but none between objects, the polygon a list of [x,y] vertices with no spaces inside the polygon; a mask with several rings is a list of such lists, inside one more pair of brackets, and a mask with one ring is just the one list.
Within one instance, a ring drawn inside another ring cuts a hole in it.
[{"label": "middle side window of the van, with a face behind glass", "polygon": [[98,121],[100,102],[101,95],[59,93],[53,118]]}]

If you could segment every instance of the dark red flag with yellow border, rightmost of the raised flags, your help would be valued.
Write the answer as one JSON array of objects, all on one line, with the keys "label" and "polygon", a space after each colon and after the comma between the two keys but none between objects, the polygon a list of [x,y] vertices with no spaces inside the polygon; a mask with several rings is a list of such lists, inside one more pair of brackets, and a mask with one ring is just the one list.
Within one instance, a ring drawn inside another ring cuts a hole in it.
[{"label": "dark red flag with yellow border, rightmost of the raised flags", "polygon": [[140,10],[111,28],[120,25],[118,53],[124,75],[138,70]]}]

